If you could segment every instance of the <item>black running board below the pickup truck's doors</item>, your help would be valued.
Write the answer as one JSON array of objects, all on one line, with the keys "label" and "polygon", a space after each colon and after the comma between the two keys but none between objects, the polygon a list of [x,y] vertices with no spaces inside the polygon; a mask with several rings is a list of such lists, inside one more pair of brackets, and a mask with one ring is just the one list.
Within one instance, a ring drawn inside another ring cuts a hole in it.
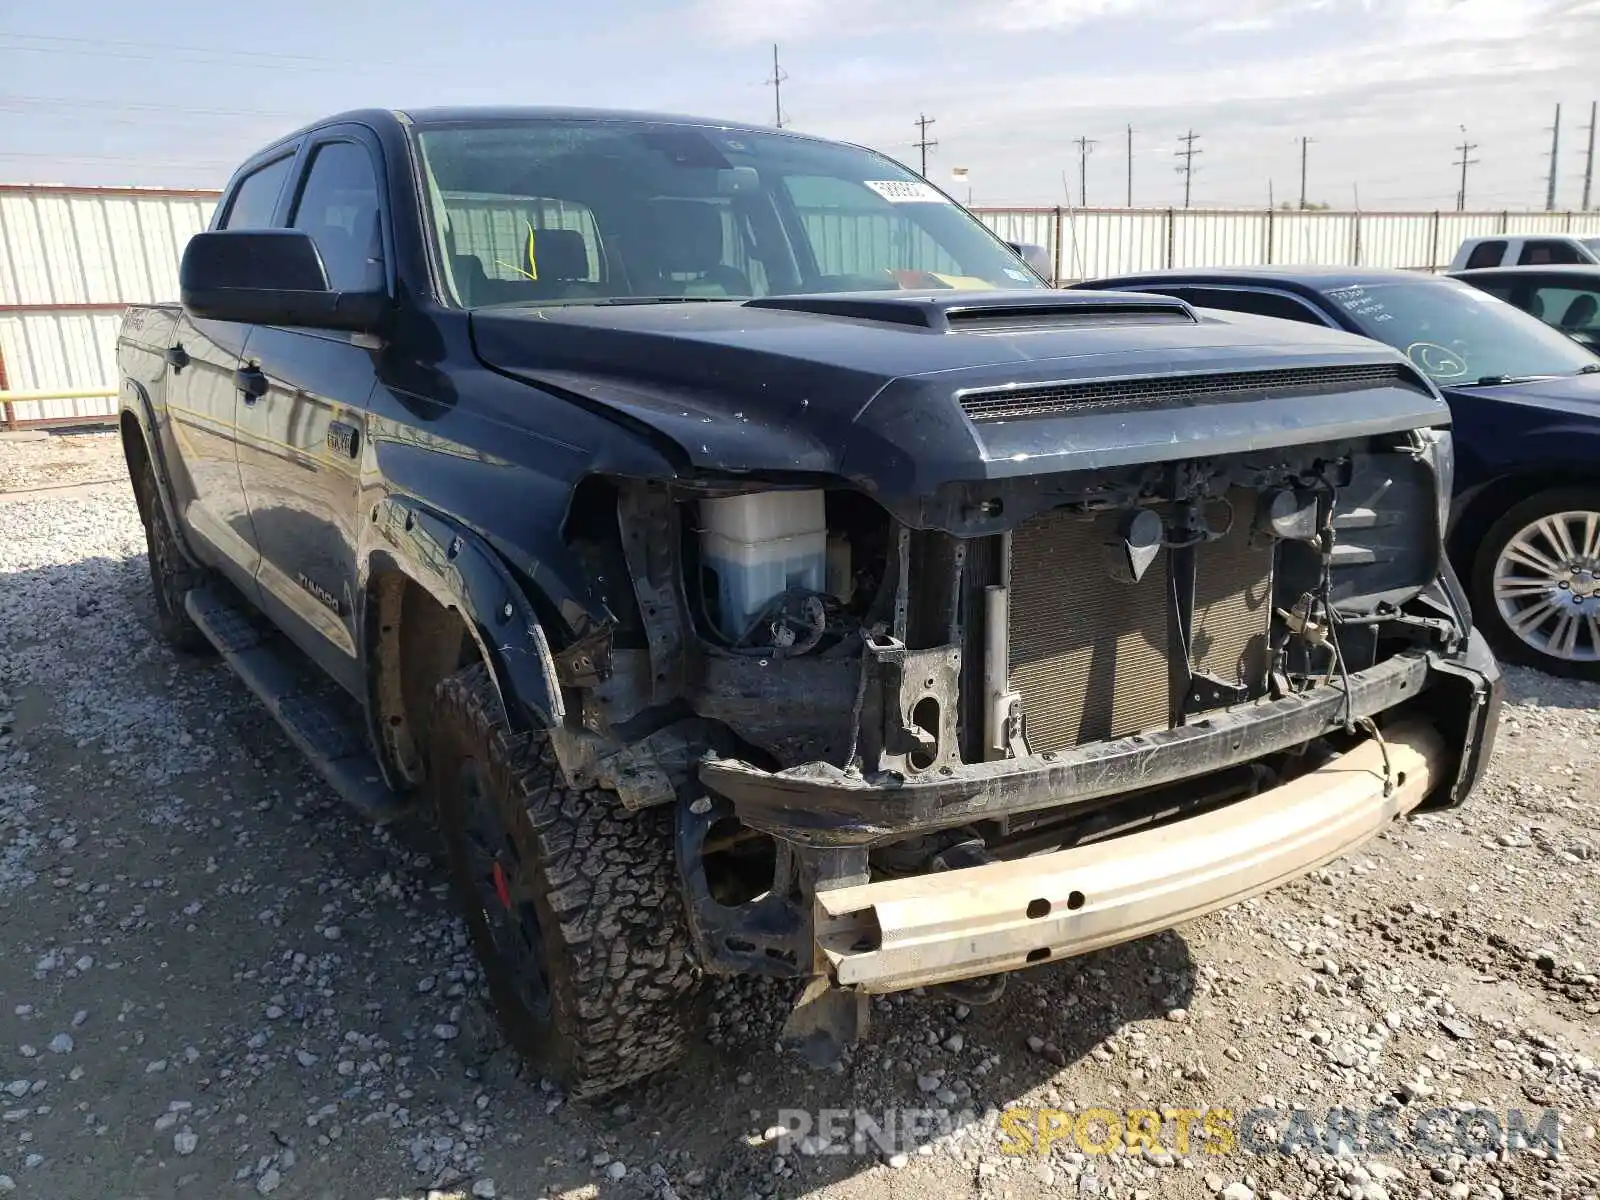
[{"label": "black running board below the pickup truck's doors", "polygon": [[360,718],[339,710],[328,694],[336,685],[298,666],[299,650],[253,622],[221,589],[189,592],[184,608],[333,790],[378,824],[406,811],[406,800],[384,782]]}]

